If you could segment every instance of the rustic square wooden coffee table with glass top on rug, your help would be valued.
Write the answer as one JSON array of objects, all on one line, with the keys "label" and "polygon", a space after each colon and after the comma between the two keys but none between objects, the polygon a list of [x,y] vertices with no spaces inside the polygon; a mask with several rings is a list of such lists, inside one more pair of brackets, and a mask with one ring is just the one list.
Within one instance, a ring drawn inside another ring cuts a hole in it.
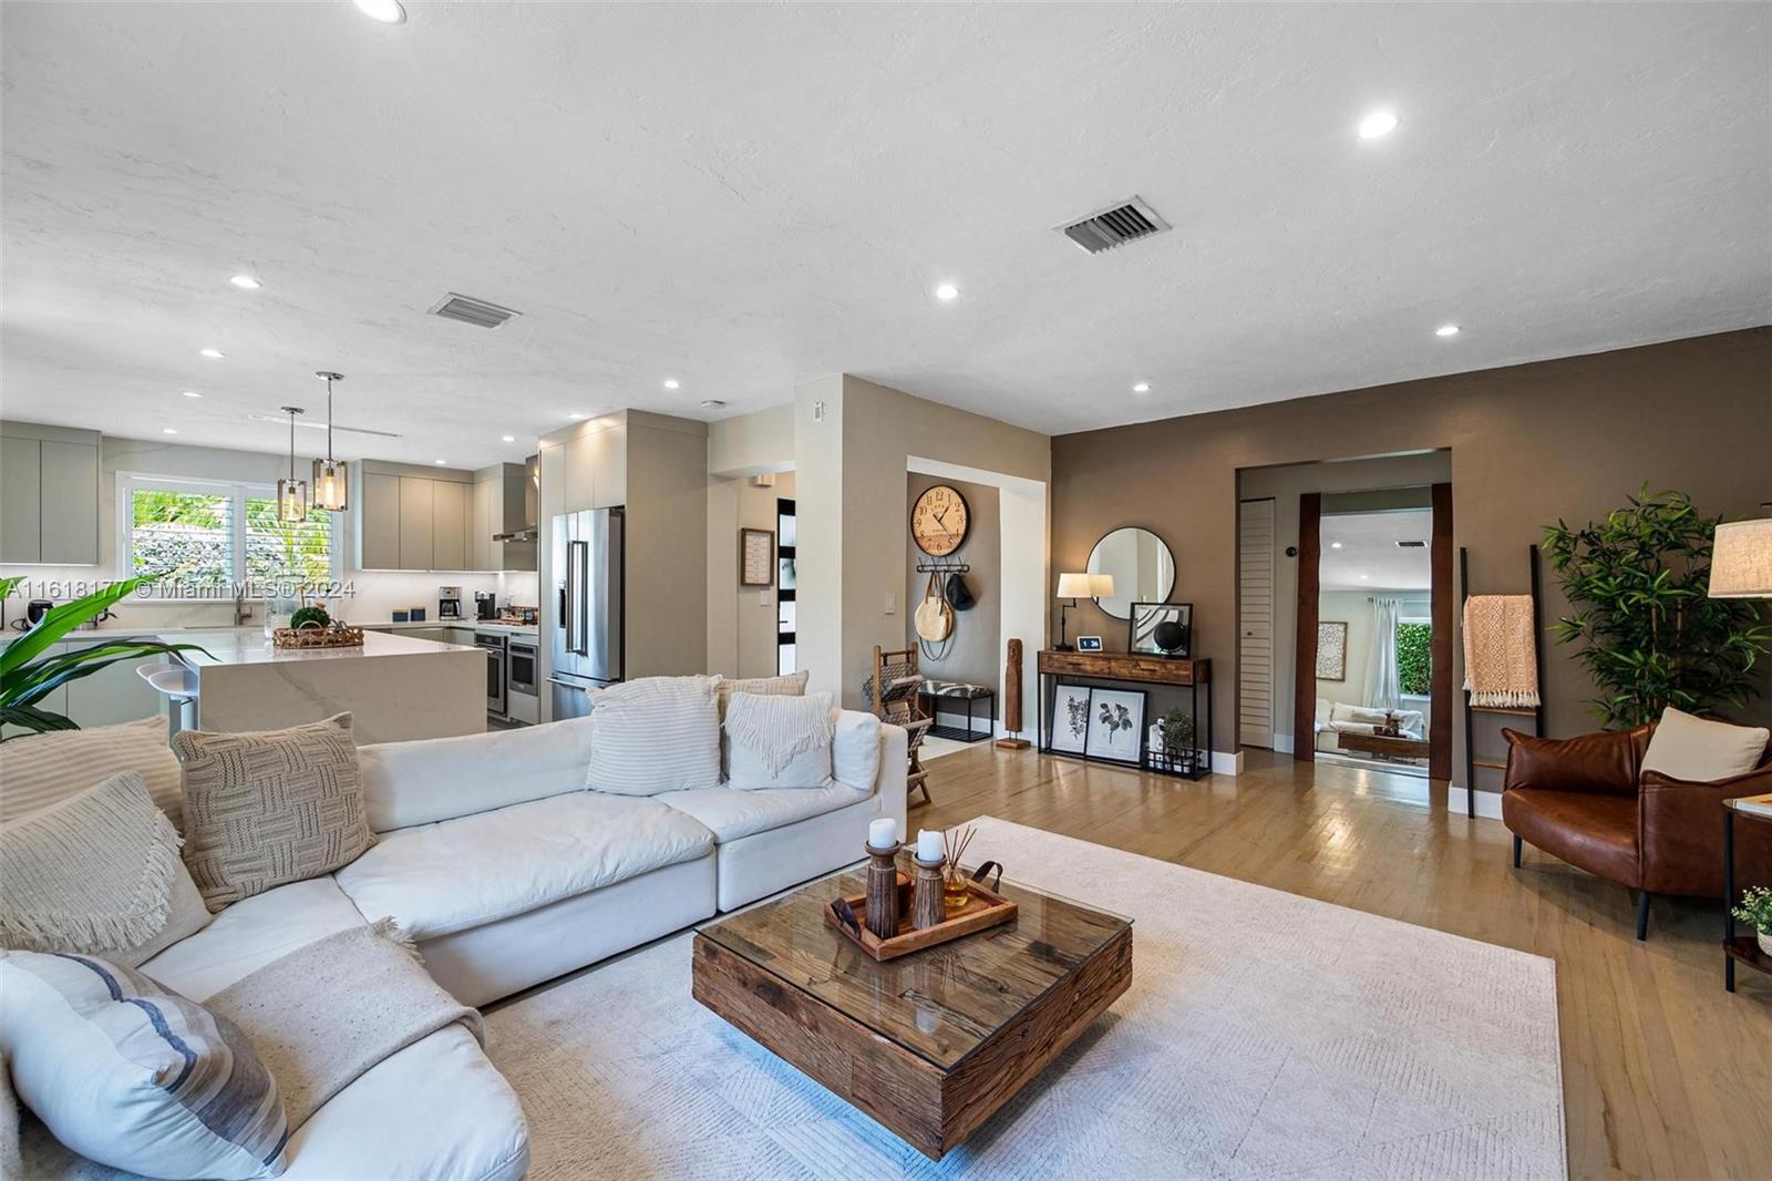
[{"label": "rustic square wooden coffee table with glass top on rug", "polygon": [[875,963],[824,920],[859,872],[695,933],[695,998],[930,1160],[1132,982],[1132,924],[1005,881],[1014,922]]}]

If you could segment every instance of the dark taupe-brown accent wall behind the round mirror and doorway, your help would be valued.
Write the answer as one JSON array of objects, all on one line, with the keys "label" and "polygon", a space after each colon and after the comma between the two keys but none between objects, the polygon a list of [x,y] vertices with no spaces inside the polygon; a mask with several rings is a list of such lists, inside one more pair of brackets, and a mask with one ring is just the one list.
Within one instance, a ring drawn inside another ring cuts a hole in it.
[{"label": "dark taupe-brown accent wall behind the round mirror and doorway", "polygon": [[[1228,748],[1239,468],[1421,447],[1451,449],[1455,543],[1471,550],[1474,592],[1524,590],[1526,546],[1545,523],[1597,518],[1644,482],[1687,491],[1710,514],[1753,516],[1772,498],[1772,326],[1056,436],[1051,569],[1083,569],[1116,525],[1170,543],[1175,598],[1194,603],[1194,656],[1212,658],[1216,734]],[[1565,606],[1547,578],[1547,615]],[[1113,622],[1084,603],[1072,631],[1123,633]],[[1056,601],[1051,626],[1056,635]],[[1547,642],[1545,663],[1547,731],[1591,729],[1593,688],[1572,653]],[[1457,669],[1455,684],[1462,677]],[[1772,702],[1758,699],[1751,718],[1772,718]],[[1460,782],[1457,711],[1455,729]],[[1478,787],[1494,784],[1480,777]]]}]

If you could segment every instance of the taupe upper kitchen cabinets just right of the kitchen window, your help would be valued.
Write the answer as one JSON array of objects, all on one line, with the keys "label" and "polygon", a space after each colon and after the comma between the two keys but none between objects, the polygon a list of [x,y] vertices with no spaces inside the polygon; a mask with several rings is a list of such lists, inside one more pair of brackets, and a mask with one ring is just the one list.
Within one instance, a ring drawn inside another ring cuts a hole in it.
[{"label": "taupe upper kitchen cabinets just right of the kitchen window", "polygon": [[351,475],[358,569],[482,569],[473,472],[363,459]]}]

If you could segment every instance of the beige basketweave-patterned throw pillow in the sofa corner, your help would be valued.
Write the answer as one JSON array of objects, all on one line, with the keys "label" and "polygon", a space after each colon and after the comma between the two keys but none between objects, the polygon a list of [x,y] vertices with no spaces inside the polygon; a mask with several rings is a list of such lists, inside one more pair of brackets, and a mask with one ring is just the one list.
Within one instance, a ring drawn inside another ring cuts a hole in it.
[{"label": "beige basketweave-patterned throw pillow in the sofa corner", "polygon": [[351,715],[287,731],[175,734],[184,864],[209,910],[349,865],[372,844]]}]

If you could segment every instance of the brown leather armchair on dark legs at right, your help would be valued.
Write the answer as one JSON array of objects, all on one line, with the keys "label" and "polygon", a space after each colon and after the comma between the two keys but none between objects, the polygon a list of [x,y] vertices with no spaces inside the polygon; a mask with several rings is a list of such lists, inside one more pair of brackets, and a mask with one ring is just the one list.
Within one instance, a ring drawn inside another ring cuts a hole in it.
[{"label": "brown leather armchair on dark legs at right", "polygon": [[[1637,890],[1637,938],[1648,936],[1650,896],[1722,896],[1722,802],[1772,791],[1772,747],[1760,766],[1714,784],[1643,771],[1655,727],[1581,738],[1503,731],[1508,775],[1501,823],[1520,842]],[[1735,878],[1772,885],[1772,825],[1737,825]]]}]

